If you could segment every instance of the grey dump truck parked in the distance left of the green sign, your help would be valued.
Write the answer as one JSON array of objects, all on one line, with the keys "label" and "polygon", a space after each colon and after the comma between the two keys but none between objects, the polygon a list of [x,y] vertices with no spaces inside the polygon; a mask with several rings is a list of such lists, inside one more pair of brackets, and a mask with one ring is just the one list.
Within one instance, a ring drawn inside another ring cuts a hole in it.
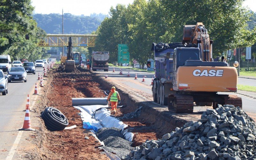
[{"label": "grey dump truck parked in the distance left of the green sign", "polygon": [[105,51],[92,51],[92,70],[104,69],[108,72],[109,53]]}]

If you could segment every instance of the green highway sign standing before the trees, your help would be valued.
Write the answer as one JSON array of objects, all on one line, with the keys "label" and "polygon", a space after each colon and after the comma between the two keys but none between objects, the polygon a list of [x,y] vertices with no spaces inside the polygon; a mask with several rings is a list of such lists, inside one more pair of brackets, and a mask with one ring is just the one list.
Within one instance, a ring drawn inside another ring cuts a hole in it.
[{"label": "green highway sign standing before the trees", "polygon": [[130,52],[127,44],[118,44],[118,63],[129,63]]}]

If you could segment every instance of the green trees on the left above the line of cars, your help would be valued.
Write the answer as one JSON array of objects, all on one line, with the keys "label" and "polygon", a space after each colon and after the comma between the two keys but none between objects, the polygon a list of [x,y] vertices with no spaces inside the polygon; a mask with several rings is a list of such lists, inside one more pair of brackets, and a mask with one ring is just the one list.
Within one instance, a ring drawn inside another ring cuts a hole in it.
[{"label": "green trees on the left above the line of cars", "polygon": [[[32,19],[30,0],[0,1],[0,54],[9,54],[12,60],[36,60],[47,57],[46,50],[38,48],[38,40],[45,36]],[[25,35],[29,40],[25,40]]]}]

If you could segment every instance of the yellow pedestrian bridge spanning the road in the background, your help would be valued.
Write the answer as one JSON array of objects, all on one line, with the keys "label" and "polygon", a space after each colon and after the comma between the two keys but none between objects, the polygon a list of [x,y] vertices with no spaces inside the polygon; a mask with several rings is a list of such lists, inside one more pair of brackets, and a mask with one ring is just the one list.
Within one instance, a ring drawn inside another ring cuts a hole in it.
[{"label": "yellow pedestrian bridge spanning the road in the background", "polygon": [[47,34],[47,36],[38,43],[39,47],[67,47],[69,37],[72,38],[73,47],[94,47],[95,39],[98,35],[59,35]]}]

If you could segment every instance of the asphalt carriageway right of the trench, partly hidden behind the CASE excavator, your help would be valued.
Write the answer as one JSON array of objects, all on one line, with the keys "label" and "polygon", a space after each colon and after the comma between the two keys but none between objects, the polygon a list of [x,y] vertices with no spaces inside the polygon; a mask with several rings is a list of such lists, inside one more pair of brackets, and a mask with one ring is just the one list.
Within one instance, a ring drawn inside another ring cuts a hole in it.
[{"label": "asphalt carriageway right of the trench, partly hidden behind the CASE excavator", "polygon": [[[126,87],[129,87],[132,90],[136,90],[138,93],[145,92],[148,93],[152,97],[152,91],[151,91],[151,80],[152,76],[154,76],[154,73],[149,72],[139,72],[132,69],[122,69],[123,75],[119,75],[120,68],[115,68],[115,72],[113,72],[113,68],[109,67],[108,72],[104,72],[103,70],[97,71],[98,73],[102,75],[108,75],[108,78],[118,79],[118,83],[121,85],[124,85]],[[128,72],[130,73],[130,77],[127,77]],[[138,80],[134,80],[135,74],[137,73]],[[146,82],[141,82],[143,76],[147,76],[145,78]],[[244,85],[251,85],[256,86],[256,80],[255,79],[246,79],[246,78],[238,78],[238,84],[244,84]],[[235,94],[239,97],[242,97],[243,101],[243,110],[247,112],[256,113],[256,99],[236,94],[236,93],[227,93],[227,92],[220,92],[220,94]]]}]

